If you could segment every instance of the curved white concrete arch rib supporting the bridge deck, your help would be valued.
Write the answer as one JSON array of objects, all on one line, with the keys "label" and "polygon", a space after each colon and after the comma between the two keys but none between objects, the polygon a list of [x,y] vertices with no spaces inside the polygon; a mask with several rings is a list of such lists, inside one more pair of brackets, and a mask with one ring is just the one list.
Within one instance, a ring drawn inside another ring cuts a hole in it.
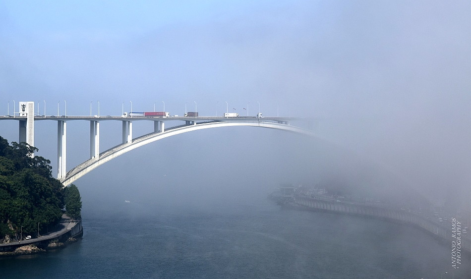
[{"label": "curved white concrete arch rib supporting the bridge deck", "polygon": [[[72,168],[70,171],[68,171],[65,176],[60,178],[60,182],[63,183],[64,186],[69,185],[70,183],[74,182],[81,176],[85,175],[92,169],[105,164],[106,162],[118,157],[119,155],[122,155],[128,151],[131,151],[135,148],[138,148],[140,146],[146,145],[148,143],[170,137],[170,136],[175,136],[181,133],[185,132],[190,132],[190,131],[195,131],[195,130],[201,130],[201,129],[208,129],[208,128],[217,128],[217,127],[229,127],[229,126],[253,126],[253,127],[264,127],[264,128],[271,128],[271,129],[278,129],[278,130],[284,130],[284,131],[289,131],[297,134],[303,134],[303,135],[308,135],[308,136],[315,136],[313,131],[291,126],[288,124],[284,123],[277,123],[277,122],[255,122],[255,121],[237,121],[237,122],[229,122],[229,121],[210,121],[210,122],[200,122],[200,123],[186,123],[184,125],[180,126],[175,126],[175,127],[170,127],[163,129],[158,129],[157,127],[155,128],[153,133],[146,134],[144,136],[135,138],[135,139],[128,139],[126,137],[126,140],[124,140],[124,135],[123,135],[123,143],[120,145],[117,145],[113,148],[110,148],[109,150],[100,153],[98,156],[94,156],[93,158],[83,162],[82,164],[78,165],[77,167]],[[127,135],[126,135],[127,136]]]}]

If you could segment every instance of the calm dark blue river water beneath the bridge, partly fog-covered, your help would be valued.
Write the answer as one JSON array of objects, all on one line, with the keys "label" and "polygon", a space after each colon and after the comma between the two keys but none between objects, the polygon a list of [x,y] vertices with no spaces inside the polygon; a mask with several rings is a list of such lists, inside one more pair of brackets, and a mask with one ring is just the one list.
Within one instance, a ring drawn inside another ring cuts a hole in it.
[{"label": "calm dark blue river water beneath the bridge, partly fog-covered", "polygon": [[[152,208],[152,209],[151,209]],[[250,202],[83,211],[64,249],[0,258],[1,278],[452,278],[451,244],[408,225]],[[454,278],[471,278],[465,256]]]}]

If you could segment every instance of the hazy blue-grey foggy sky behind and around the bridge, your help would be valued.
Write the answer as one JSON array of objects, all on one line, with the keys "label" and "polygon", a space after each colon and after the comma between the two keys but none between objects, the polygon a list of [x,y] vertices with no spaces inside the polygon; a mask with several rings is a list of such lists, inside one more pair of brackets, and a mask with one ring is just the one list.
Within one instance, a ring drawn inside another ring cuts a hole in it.
[{"label": "hazy blue-grey foggy sky behind and around the bridge", "polygon": [[[213,192],[336,179],[376,187],[387,172],[431,201],[459,196],[471,207],[470,12],[469,1],[0,1],[0,115],[12,114],[13,100],[39,102],[41,114],[46,104],[48,115],[58,102],[64,114],[64,101],[67,115],[88,115],[90,104],[98,114],[98,102],[101,115],[119,115],[130,101],[134,111],[162,111],[165,102],[180,115],[195,102],[200,115],[222,114],[228,102],[255,115],[259,102],[266,116],[315,118],[323,140],[253,128],[193,132],[123,155],[77,184],[106,184],[100,173],[145,184],[149,172],[155,181],[168,172],[172,185],[196,180]],[[17,141],[17,125],[0,121],[0,135]],[[88,159],[87,127],[67,126],[68,166]],[[55,129],[38,123],[35,131],[38,154],[53,167]],[[101,150],[119,143],[120,123],[101,129]]]}]

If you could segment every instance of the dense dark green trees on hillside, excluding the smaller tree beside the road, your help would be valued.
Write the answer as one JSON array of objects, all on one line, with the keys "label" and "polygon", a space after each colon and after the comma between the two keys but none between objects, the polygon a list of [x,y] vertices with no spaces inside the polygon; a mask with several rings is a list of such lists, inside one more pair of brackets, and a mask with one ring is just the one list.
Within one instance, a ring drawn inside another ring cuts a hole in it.
[{"label": "dense dark green trees on hillside, excluding the smaller tree beside the road", "polygon": [[35,234],[59,223],[64,205],[62,183],[52,176],[51,161],[31,155],[37,148],[0,136],[0,238]]}]

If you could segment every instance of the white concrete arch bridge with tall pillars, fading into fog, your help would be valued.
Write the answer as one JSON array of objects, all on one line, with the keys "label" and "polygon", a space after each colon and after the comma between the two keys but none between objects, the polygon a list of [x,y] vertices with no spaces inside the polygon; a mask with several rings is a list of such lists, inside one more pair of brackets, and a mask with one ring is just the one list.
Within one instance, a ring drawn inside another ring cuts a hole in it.
[{"label": "white concrete arch bridge with tall pillars, fading into fog", "polygon": [[[24,105],[21,107],[21,105]],[[23,111],[21,112],[21,110]],[[290,124],[291,121],[306,121],[312,127],[313,119],[298,117],[258,117],[258,116],[46,116],[34,115],[33,102],[21,102],[18,115],[5,115],[0,120],[19,121],[19,142],[34,146],[34,122],[53,120],[58,122],[58,179],[64,186],[69,185],[92,169],[148,143],[178,135],[185,132],[228,126],[253,126],[284,130],[297,134],[314,136],[311,129],[305,129]],[[66,123],[72,120],[90,121],[90,159],[66,171]],[[100,122],[122,121],[122,142],[100,153]],[[154,121],[154,131],[143,136],[132,138],[132,122],[139,120]],[[166,121],[183,121],[184,124],[165,128]]]}]

